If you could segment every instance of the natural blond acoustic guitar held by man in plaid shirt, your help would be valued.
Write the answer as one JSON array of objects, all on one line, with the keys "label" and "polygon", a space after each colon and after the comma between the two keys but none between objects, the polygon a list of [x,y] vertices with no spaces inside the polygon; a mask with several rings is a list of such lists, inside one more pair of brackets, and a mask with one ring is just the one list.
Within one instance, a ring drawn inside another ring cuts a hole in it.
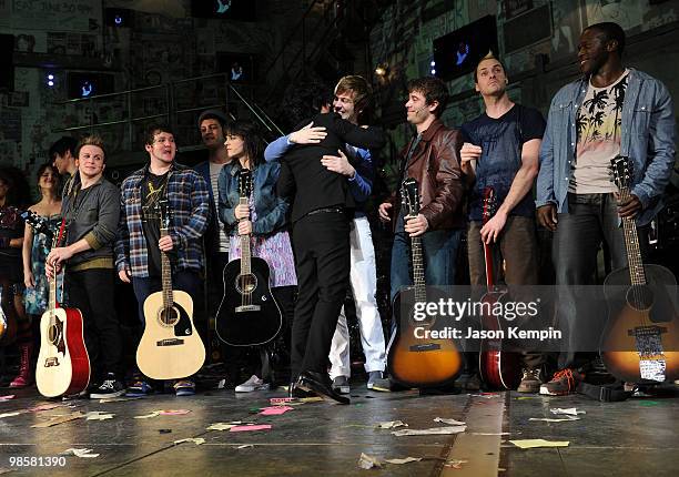
[{"label": "natural blond acoustic guitar held by man in plaid shirt", "polygon": [[[160,236],[170,230],[168,201],[159,201]],[[136,348],[139,369],[153,379],[180,379],[195,374],[205,363],[205,346],[193,325],[193,300],[172,290],[172,266],[161,252],[163,290],[144,301],[144,334]]]}]

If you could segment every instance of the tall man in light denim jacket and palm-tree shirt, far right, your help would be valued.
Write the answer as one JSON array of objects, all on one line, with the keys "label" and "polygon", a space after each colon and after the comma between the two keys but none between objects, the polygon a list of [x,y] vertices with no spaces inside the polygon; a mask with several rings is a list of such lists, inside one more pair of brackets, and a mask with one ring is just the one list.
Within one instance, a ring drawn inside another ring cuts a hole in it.
[{"label": "tall man in light denim jacket and palm-tree shirt, far right", "polygon": [[[584,78],[559,90],[549,109],[536,205],[540,225],[555,232],[557,285],[592,283],[601,241],[614,270],[627,266],[619,217],[635,217],[638,227],[647,225],[661,206],[675,162],[671,98],[660,81],[622,65],[624,48],[625,32],[616,23],[585,29],[578,44]],[[631,194],[621,202],[609,180],[610,160],[617,155],[634,164]],[[561,371],[541,386],[540,394],[571,393],[584,377],[571,369],[582,336],[582,323],[575,326],[572,296],[559,301],[557,316],[567,348],[559,356]]]}]

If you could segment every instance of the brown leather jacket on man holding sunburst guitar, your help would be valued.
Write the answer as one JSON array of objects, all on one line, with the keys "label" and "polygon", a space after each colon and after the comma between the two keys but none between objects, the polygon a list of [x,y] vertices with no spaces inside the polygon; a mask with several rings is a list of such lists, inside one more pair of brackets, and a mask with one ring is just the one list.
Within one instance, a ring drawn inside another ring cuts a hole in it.
[{"label": "brown leather jacket on man holding sunburst guitar", "polygon": [[[411,144],[399,154],[406,156]],[[463,145],[462,133],[456,129],[446,128],[436,120],[422,134],[419,143],[415,146],[413,156],[407,165],[407,177],[413,177],[419,184],[422,213],[429,223],[428,230],[463,229],[465,225],[464,212],[464,181],[459,168],[459,150]],[[396,219],[401,210],[401,184],[392,195],[393,204],[392,225],[396,226]]]}]

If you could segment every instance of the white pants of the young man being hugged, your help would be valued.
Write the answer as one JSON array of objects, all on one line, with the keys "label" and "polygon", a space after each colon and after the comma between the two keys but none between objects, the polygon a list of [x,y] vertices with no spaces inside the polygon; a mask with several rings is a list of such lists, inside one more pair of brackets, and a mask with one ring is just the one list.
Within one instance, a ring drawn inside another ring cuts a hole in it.
[{"label": "white pants of the young man being hugged", "polygon": [[[375,248],[373,247],[373,234],[367,217],[354,219],[349,240],[352,254],[349,276],[356,304],[358,329],[361,331],[361,344],[365,355],[365,371],[368,373],[384,371],[386,365],[384,332],[382,331],[382,321],[375,298],[377,290]],[[340,312],[337,327],[333,336],[330,361],[332,364],[331,379],[337,376],[351,376],[349,333],[344,307]]]}]

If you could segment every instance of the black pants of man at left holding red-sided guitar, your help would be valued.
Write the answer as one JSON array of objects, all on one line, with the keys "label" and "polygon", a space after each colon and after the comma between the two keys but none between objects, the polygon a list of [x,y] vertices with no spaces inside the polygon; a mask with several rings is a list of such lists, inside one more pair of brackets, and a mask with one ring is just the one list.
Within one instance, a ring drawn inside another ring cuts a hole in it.
[{"label": "black pants of man at left holding red-sided guitar", "polygon": [[107,373],[122,378],[122,339],[113,303],[113,285],[114,275],[110,268],[65,273],[70,306],[82,313],[92,367],[90,382],[100,380]]}]

